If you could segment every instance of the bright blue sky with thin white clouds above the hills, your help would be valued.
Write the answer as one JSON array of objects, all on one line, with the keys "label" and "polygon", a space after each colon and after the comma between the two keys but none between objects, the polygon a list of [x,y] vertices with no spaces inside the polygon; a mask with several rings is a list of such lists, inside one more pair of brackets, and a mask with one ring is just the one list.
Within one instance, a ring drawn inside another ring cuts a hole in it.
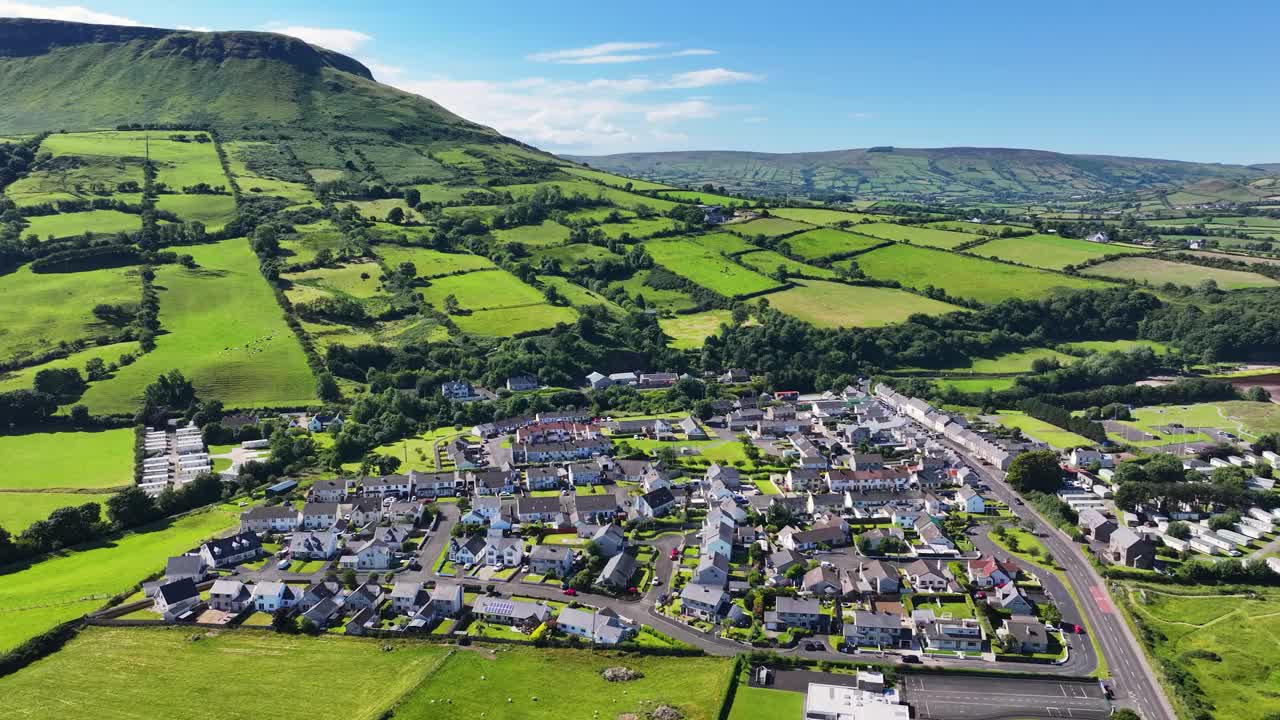
[{"label": "bright blue sky with thin white clouds above the hills", "polygon": [[0,0],[274,29],[557,152],[870,145],[1280,161],[1280,4]]}]

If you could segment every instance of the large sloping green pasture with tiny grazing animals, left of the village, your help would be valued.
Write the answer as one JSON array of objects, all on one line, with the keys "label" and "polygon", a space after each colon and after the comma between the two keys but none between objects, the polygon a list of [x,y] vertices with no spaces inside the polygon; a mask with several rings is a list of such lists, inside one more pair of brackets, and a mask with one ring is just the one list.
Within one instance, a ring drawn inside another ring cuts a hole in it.
[{"label": "large sloping green pasture with tiny grazing animals, left of the village", "polygon": [[172,369],[182,370],[202,397],[228,407],[314,402],[306,355],[248,242],[233,238],[184,250],[197,268],[164,265],[156,273],[156,348],[93,383],[82,402],[93,413],[132,413],[142,388]]}]

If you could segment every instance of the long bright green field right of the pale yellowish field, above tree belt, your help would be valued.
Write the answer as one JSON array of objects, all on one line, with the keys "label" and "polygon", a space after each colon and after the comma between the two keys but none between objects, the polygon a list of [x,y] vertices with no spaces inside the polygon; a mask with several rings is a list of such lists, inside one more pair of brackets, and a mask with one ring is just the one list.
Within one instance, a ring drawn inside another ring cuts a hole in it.
[{"label": "long bright green field right of the pale yellowish field, above tree belt", "polygon": [[964,255],[940,255],[937,250],[906,245],[872,250],[855,260],[872,278],[897,281],[916,290],[928,286],[941,287],[947,295],[978,302],[1000,302],[1011,297],[1034,300],[1060,288],[1107,287],[1102,281],[1060,275]]}]

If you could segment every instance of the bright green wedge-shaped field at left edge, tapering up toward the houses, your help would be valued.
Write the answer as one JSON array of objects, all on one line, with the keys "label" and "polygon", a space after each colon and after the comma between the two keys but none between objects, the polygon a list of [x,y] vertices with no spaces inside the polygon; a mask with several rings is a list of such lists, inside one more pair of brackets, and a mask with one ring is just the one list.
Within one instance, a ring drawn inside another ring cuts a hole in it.
[{"label": "bright green wedge-shaped field at left edge, tapering up toward the houses", "polygon": [[221,505],[5,575],[0,583],[0,653],[101,607],[109,597],[163,569],[169,556],[233,530],[239,511]]}]

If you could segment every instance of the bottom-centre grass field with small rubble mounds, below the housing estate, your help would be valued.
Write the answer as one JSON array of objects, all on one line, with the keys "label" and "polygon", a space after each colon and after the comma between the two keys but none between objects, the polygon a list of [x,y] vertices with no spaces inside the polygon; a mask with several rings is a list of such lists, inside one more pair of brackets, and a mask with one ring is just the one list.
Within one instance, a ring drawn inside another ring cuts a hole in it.
[{"label": "bottom-centre grass field with small rubble mounds, below the housing estate", "polygon": [[[644,674],[609,683],[600,671],[626,666]],[[556,682],[548,682],[554,669]],[[712,720],[728,683],[730,661],[721,657],[659,657],[511,647],[477,648],[449,656],[396,708],[397,717],[489,720],[612,719],[672,705],[689,720]],[[358,675],[366,676],[366,673]],[[534,700],[534,698],[538,700]],[[506,702],[511,698],[511,702]]]}]

